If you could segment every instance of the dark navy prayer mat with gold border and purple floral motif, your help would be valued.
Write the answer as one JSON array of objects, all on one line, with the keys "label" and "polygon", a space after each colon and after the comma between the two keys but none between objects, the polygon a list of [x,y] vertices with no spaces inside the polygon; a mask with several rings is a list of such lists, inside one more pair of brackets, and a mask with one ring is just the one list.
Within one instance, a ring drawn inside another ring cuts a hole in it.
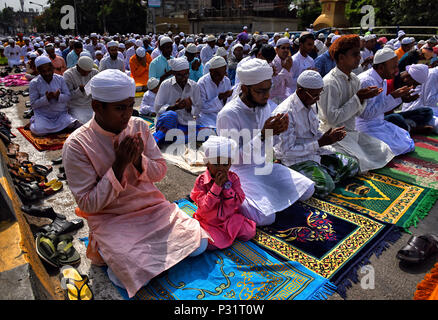
[{"label": "dark navy prayer mat with gold border and purple floral motif", "polygon": [[397,226],[316,198],[296,202],[258,227],[253,241],[287,261],[296,261],[330,280],[341,297],[359,268],[401,236]]}]

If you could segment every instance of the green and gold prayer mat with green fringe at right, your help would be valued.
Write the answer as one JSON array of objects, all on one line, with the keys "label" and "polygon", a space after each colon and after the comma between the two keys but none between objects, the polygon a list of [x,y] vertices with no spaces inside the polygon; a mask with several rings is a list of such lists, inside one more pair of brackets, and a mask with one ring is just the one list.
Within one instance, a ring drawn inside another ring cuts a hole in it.
[{"label": "green and gold prayer mat with green fringe at right", "polygon": [[368,173],[347,179],[327,201],[356,210],[406,231],[424,218],[438,199],[438,191],[389,176]]}]

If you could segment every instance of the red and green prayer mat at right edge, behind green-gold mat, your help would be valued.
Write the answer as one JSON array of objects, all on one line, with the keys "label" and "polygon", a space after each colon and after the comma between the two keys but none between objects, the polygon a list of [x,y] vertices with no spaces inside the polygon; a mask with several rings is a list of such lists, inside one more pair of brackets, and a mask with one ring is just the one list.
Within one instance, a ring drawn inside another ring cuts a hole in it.
[{"label": "red and green prayer mat at right edge, behind green-gold mat", "polygon": [[438,190],[438,135],[413,136],[415,151],[376,170],[395,179]]}]

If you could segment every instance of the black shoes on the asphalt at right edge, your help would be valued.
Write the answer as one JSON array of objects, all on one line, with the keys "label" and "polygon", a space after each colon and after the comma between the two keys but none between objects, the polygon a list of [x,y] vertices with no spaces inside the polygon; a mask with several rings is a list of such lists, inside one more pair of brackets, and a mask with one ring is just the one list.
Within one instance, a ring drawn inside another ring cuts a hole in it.
[{"label": "black shoes on the asphalt at right edge", "polygon": [[412,236],[408,244],[401,248],[397,253],[397,258],[406,262],[423,262],[438,252],[438,236],[426,234],[422,236]]}]

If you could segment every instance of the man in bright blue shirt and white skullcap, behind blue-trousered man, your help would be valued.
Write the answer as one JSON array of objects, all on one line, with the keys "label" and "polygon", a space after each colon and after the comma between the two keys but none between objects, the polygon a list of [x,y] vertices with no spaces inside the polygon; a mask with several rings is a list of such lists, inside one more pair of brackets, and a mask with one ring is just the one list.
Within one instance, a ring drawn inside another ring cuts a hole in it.
[{"label": "man in bright blue shirt and white skullcap, behind blue-trousered man", "polygon": [[159,40],[159,49],[161,54],[154,58],[149,65],[149,77],[157,78],[163,82],[172,76],[172,69],[169,66],[169,60],[173,59],[172,48],[173,41],[169,37],[162,37]]}]

